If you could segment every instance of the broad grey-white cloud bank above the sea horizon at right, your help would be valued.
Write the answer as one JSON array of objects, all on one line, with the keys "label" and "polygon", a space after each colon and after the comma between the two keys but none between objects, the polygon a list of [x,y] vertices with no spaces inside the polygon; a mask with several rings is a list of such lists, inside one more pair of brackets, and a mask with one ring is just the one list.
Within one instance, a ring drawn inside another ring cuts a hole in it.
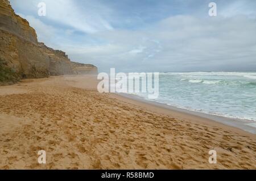
[{"label": "broad grey-white cloud bank above the sea horizon at right", "polygon": [[96,33],[109,44],[74,54],[97,61],[105,70],[117,66],[125,71],[252,70],[256,69],[254,32],[255,20],[246,16],[180,15],[144,30]]}]

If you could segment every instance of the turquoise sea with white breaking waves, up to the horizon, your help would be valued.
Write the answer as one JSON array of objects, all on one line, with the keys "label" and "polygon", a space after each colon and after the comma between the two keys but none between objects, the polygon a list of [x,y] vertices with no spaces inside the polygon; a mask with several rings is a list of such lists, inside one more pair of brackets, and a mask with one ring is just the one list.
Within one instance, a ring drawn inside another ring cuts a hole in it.
[{"label": "turquoise sea with white breaking waves, up to the horizon", "polygon": [[153,101],[256,121],[256,72],[160,73],[159,97]]}]

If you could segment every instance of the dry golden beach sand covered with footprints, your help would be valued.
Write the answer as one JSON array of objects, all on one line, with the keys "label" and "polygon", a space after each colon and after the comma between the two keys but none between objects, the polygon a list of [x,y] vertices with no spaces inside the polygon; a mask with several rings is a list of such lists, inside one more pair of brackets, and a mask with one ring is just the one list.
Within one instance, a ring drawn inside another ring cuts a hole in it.
[{"label": "dry golden beach sand covered with footprints", "polygon": [[80,75],[0,87],[0,169],[256,169],[255,134],[96,86]]}]

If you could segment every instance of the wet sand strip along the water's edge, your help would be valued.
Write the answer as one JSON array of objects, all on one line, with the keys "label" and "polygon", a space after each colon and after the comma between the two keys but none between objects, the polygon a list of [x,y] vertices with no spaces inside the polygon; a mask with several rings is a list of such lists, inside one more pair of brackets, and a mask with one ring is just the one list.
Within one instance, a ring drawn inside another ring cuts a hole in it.
[{"label": "wet sand strip along the water's edge", "polygon": [[185,114],[188,116],[192,116],[192,115],[198,116],[201,119],[207,119],[209,121],[214,121],[214,122],[217,122],[217,123],[229,126],[229,127],[241,129],[242,131],[245,131],[248,133],[256,134],[256,127],[248,125],[248,124],[256,125],[256,121],[245,120],[245,119],[235,119],[235,118],[231,118],[231,117],[212,115],[212,114],[204,113],[204,112],[191,111],[191,110],[187,110],[185,108],[179,108],[179,107],[170,106],[170,105],[164,104],[164,103],[146,100],[138,95],[125,94],[125,93],[116,93],[116,94],[123,96],[124,98],[127,98],[127,99],[132,99],[132,100],[135,100],[138,102],[150,104],[152,106],[164,108],[164,109],[170,110],[172,112],[179,112],[180,114]]}]

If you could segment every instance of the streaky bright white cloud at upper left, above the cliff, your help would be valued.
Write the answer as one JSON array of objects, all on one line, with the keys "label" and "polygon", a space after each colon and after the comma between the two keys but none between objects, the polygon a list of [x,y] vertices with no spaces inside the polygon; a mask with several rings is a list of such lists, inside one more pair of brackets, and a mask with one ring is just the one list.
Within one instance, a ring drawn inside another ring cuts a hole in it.
[{"label": "streaky bright white cloud at upper left, above the cliff", "polygon": [[[14,7],[18,7],[21,11],[30,12],[34,17],[38,16],[38,3],[40,2],[42,1],[11,1]],[[43,2],[46,3],[46,16],[42,18],[59,25],[68,26],[85,33],[113,30],[113,27],[102,18],[105,11],[109,10],[100,3],[83,1],[81,5],[72,0],[44,0]]]}]

